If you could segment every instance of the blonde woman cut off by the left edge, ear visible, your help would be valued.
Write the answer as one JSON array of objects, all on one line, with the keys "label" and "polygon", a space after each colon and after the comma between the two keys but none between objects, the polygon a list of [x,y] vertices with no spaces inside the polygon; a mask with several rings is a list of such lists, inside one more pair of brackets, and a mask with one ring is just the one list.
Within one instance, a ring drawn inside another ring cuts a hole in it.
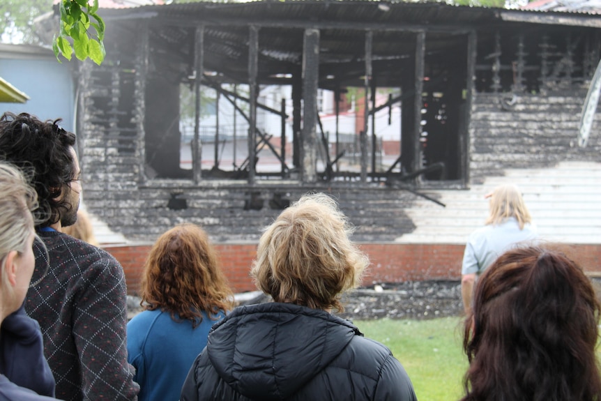
[{"label": "blonde woman cut off by the left edge, ear visible", "polygon": [[0,162],[0,400],[54,399],[40,326],[23,303],[36,264],[31,215],[36,199],[19,170]]}]

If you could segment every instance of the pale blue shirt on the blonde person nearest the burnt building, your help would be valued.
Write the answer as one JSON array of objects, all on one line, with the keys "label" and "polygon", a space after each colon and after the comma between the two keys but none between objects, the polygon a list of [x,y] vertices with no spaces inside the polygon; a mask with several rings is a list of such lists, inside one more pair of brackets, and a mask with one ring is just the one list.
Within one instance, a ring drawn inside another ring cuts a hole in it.
[{"label": "pale blue shirt on the blonde person nearest the burnt building", "polygon": [[517,243],[531,243],[538,238],[536,228],[525,224],[519,229],[515,217],[498,225],[485,225],[471,233],[463,256],[462,274],[480,274],[499,256]]}]

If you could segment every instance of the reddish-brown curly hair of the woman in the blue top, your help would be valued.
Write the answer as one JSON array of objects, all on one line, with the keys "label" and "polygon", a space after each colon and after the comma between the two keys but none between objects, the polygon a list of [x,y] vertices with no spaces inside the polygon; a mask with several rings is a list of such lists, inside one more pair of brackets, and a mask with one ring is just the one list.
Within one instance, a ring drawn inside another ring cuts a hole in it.
[{"label": "reddish-brown curly hair of the woman in the blue top", "polygon": [[[213,319],[234,308],[234,294],[221,271],[218,253],[197,225],[177,225],[162,234],[144,264],[140,297],[146,310],[188,319],[192,327],[204,311]],[[176,316],[178,315],[178,316]]]}]

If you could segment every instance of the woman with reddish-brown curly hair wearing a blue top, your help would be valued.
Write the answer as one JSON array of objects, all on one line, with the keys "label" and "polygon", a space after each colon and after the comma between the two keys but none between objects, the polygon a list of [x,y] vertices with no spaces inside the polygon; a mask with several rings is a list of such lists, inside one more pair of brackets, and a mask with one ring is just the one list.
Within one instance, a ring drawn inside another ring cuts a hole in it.
[{"label": "woman with reddish-brown curly hair wearing a blue top", "polygon": [[128,323],[128,361],[139,401],[177,401],[211,326],[234,306],[218,254],[200,227],[162,234],[144,265],[144,311]]}]

